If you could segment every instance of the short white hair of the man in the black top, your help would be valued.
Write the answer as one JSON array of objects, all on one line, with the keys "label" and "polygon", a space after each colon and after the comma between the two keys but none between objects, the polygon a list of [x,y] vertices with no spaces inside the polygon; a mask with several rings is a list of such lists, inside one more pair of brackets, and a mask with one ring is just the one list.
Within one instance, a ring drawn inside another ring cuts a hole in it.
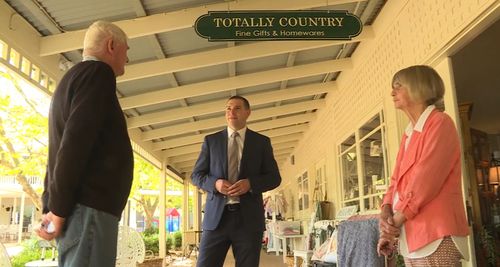
[{"label": "short white hair of the man in the black top", "polygon": [[122,44],[127,43],[127,35],[111,22],[98,20],[89,26],[83,40],[83,54],[99,54],[105,48],[105,42],[110,38]]}]

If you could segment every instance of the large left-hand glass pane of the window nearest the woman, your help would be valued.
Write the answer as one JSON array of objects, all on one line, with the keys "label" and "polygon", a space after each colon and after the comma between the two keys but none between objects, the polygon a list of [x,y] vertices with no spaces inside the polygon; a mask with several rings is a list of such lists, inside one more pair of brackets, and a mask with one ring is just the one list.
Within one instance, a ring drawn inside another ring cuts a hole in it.
[{"label": "large left-hand glass pane of the window nearest the woman", "polygon": [[344,199],[359,196],[358,167],[356,164],[356,148],[353,147],[342,155],[342,181],[344,183]]}]

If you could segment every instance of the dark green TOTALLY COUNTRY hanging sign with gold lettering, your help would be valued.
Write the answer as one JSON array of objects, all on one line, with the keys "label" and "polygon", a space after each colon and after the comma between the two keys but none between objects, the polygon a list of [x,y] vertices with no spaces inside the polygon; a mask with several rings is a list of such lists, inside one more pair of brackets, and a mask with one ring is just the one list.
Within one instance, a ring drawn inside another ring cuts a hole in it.
[{"label": "dark green TOTALLY COUNTRY hanging sign with gold lettering", "polygon": [[209,41],[350,40],[363,28],[347,11],[209,11],[194,25]]}]

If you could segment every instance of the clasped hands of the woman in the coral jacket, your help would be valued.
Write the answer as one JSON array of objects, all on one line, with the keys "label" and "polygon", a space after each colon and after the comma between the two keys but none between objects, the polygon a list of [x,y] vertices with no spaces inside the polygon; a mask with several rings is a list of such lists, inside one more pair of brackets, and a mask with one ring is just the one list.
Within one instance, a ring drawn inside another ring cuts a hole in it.
[{"label": "clasped hands of the woman in the coral jacket", "polygon": [[393,214],[390,205],[385,205],[380,213],[380,237],[377,244],[378,255],[390,256],[396,250],[400,227],[405,221],[401,213]]}]

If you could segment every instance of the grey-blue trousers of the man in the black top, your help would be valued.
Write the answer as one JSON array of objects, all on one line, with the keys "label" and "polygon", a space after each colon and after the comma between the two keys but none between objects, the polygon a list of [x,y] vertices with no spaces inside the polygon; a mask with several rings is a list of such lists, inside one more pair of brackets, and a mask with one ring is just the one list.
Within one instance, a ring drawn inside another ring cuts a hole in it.
[{"label": "grey-blue trousers of the man in the black top", "polygon": [[114,267],[119,218],[77,204],[58,238],[59,266]]}]

